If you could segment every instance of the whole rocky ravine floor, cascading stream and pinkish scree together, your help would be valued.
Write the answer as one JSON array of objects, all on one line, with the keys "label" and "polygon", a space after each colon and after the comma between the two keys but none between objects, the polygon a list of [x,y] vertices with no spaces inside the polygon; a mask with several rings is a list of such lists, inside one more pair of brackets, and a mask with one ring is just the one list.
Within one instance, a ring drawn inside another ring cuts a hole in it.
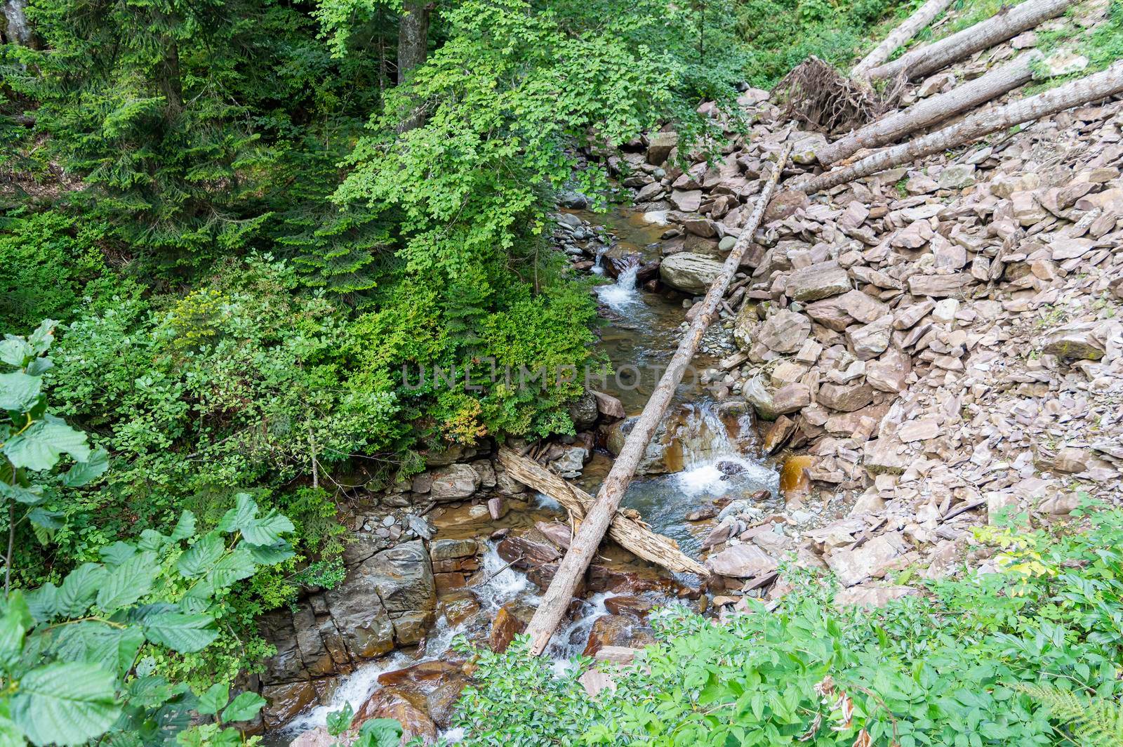
[{"label": "whole rocky ravine floor, cascading stream and pinkish scree together", "polygon": [[[919,81],[905,102],[1014,51]],[[557,213],[574,272],[606,279],[602,349],[618,373],[574,403],[576,437],[511,445],[590,492],[768,163],[791,142],[785,177],[798,176],[825,142],[765,91],[740,104],[754,124],[729,134],[723,163],[691,155],[684,168],[675,134],[655,133],[605,154],[634,210],[594,215],[575,194]],[[1085,495],[1117,501],[1121,162],[1123,102],[1110,101],[828,193],[783,190],[626,499],[713,576],[674,579],[606,546],[550,653],[626,659],[649,640],[652,605],[733,613],[783,594],[792,556],[834,572],[840,603],[880,603],[917,593],[896,582],[905,568],[988,571],[971,528],[1003,512],[1047,522]],[[570,537],[494,450],[429,454],[423,473],[351,507],[345,583],[263,621],[279,654],[250,684],[270,700],[267,729],[330,745],[314,727],[344,702],[408,734],[447,729],[471,676],[453,634],[504,647]]]}]

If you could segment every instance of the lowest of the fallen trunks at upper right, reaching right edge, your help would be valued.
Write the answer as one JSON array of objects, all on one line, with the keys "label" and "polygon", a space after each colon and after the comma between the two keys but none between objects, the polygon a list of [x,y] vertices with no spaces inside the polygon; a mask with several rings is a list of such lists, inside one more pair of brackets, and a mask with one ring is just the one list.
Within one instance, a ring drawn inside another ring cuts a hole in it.
[{"label": "lowest of the fallen trunks at upper right, reaching right edge", "polygon": [[814,194],[886,168],[911,163],[933,153],[958,147],[1014,125],[1048,117],[1089,101],[1105,99],[1121,91],[1123,91],[1123,62],[1116,62],[1103,72],[1021,101],[979,111],[961,122],[909,143],[885,148],[843,168],[836,168],[820,176],[803,180],[795,186],[807,194]]}]

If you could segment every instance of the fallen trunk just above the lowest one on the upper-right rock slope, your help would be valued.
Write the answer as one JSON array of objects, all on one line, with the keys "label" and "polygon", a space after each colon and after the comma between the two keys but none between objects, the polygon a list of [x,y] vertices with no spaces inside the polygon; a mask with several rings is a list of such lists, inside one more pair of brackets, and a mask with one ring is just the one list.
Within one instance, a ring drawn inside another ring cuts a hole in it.
[{"label": "fallen trunk just above the lowest one on the upper-right rock slope", "polygon": [[815,152],[819,163],[829,166],[849,158],[861,148],[877,148],[900,140],[909,133],[934,125],[996,99],[1033,78],[1032,63],[1041,55],[1029,53],[996,67],[956,89],[871,121],[857,133],[834,140]]}]

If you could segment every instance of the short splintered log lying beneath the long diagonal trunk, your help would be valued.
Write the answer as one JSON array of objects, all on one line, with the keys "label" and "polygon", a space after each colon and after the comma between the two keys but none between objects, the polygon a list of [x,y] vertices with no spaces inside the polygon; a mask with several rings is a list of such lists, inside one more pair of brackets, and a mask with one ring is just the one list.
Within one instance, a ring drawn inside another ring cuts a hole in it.
[{"label": "short splintered log lying beneath the long diagonal trunk", "polygon": [[[519,456],[505,447],[499,450],[499,461],[512,477],[564,505],[576,522],[585,520],[588,507],[593,504],[593,497],[581,488],[570,485],[533,459]],[[645,561],[674,573],[693,573],[702,577],[710,574],[704,565],[678,549],[678,543],[674,539],[651,531],[642,521],[619,511],[609,526],[609,537]]]}]

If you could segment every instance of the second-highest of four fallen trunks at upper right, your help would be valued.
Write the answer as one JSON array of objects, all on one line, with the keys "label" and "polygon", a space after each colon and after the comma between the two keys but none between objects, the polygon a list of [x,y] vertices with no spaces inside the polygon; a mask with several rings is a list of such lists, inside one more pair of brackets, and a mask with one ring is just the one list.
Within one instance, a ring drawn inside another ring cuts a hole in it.
[{"label": "second-highest of four fallen trunks at upper right", "polygon": [[869,71],[869,78],[876,81],[902,74],[905,78],[928,75],[980,49],[987,49],[1012,36],[1017,36],[1041,21],[1061,15],[1075,1],[1025,0],[1020,6],[1014,6],[946,39],[917,47],[888,64],[874,67]]}]

